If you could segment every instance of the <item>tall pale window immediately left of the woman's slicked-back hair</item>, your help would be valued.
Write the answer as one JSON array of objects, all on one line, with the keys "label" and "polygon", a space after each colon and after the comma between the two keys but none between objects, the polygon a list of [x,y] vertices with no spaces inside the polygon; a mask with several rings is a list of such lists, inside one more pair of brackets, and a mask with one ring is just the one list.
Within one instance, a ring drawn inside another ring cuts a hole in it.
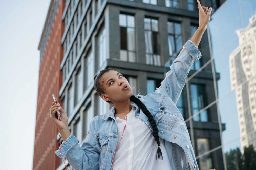
[{"label": "tall pale window immediately left of the woman's slicked-back hair", "polygon": [[89,51],[86,62],[86,68],[87,68],[87,87],[91,85],[91,82],[93,81],[93,75],[94,75],[94,60],[92,51]]}]

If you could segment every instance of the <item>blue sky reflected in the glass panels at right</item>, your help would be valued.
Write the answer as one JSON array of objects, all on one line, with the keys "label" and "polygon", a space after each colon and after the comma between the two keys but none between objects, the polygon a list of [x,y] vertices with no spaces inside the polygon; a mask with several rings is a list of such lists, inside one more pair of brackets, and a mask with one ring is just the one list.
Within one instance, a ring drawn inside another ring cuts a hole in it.
[{"label": "blue sky reflected in the glass panels at right", "polygon": [[241,147],[236,93],[231,91],[230,85],[229,55],[239,45],[236,30],[249,24],[249,18],[256,9],[256,2],[252,0],[244,0],[240,4],[242,15],[239,1],[227,0],[212,15],[212,20],[208,25],[211,31],[212,57],[216,72],[220,73],[217,86],[221,121],[226,123],[226,130],[222,134],[224,152],[229,151],[230,148]]}]

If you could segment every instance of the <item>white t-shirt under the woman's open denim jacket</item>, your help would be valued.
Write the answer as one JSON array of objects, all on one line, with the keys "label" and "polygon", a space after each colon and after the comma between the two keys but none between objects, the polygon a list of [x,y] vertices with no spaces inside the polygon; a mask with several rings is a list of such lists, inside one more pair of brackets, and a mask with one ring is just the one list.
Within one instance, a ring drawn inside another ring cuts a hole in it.
[{"label": "white t-shirt under the woman's open denim jacket", "polygon": [[153,132],[144,122],[135,118],[135,111],[136,108],[132,106],[131,112],[127,114],[127,123],[124,133],[125,120],[116,117],[118,124],[118,143],[122,133],[123,137],[115,152],[114,169],[171,169],[163,139],[159,138],[163,160],[160,158],[156,160],[158,145],[153,136]]}]

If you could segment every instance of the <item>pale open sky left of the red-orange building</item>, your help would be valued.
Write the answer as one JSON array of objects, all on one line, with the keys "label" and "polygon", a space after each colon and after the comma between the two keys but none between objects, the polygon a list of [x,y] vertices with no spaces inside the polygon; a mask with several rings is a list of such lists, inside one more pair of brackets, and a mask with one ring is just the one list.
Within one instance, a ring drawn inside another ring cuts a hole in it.
[{"label": "pale open sky left of the red-orange building", "polygon": [[1,0],[1,169],[32,169],[40,56],[37,47],[49,4],[50,0]]}]

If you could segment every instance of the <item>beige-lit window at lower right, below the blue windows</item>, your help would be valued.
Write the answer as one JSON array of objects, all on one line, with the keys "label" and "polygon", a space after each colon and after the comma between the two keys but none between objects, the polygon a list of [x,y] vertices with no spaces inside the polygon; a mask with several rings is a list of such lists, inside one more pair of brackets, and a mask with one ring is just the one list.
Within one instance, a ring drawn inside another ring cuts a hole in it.
[{"label": "beige-lit window at lower right, below the blue windows", "polygon": [[[197,138],[196,143],[197,143],[198,155],[201,155],[210,150],[209,139]],[[212,168],[212,160],[211,160],[210,154],[204,155],[199,158],[199,166],[200,166],[200,169],[211,169]]]}]

